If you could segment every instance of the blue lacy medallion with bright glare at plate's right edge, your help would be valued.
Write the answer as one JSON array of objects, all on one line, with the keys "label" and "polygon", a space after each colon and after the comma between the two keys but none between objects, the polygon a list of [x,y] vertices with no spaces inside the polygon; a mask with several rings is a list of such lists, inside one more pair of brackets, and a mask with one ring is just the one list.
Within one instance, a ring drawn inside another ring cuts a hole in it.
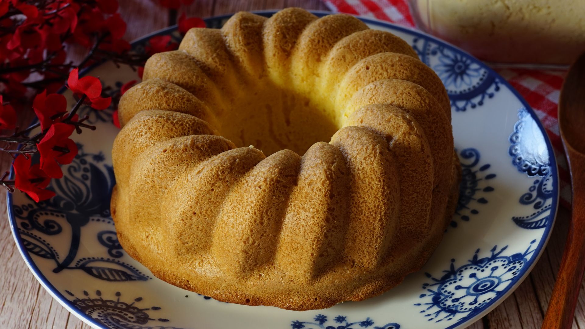
[{"label": "blue lacy medallion with bright glare at plate's right edge", "polygon": [[509,138],[512,165],[528,176],[545,176],[550,172],[545,136],[525,107],[518,110],[518,118]]}]

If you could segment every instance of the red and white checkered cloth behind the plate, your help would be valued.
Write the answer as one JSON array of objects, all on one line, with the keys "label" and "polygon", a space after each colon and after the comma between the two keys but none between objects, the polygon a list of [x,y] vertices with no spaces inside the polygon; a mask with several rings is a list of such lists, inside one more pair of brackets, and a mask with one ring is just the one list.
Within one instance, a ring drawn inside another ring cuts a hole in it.
[{"label": "red and white checkered cloth behind the plate", "polygon": [[[407,0],[324,0],[333,12],[344,12],[415,28]],[[560,87],[566,71],[501,68],[496,71],[516,88],[541,119],[559,165],[560,203],[569,207],[571,201],[570,176],[565,150],[560,140],[557,106]]]}]

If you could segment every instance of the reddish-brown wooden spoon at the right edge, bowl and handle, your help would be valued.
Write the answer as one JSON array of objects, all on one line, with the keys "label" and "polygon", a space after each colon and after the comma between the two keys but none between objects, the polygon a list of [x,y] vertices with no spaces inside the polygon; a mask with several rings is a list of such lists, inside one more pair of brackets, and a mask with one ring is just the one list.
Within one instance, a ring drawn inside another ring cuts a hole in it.
[{"label": "reddish-brown wooden spoon at the right edge, bowl and handle", "polygon": [[559,128],[571,171],[573,218],[543,329],[572,326],[585,268],[585,53],[569,68],[563,83]]}]

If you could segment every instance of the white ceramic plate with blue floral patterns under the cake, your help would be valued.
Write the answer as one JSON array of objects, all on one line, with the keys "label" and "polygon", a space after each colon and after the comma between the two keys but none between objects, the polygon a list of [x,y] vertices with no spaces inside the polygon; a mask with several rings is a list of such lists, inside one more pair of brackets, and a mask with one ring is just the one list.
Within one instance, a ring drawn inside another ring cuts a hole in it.
[{"label": "white ceramic plate with blue floral patterns under the cake", "polygon": [[[206,21],[219,28],[228,18]],[[16,244],[44,288],[95,328],[461,328],[500,304],[538,261],[555,221],[557,169],[542,125],[503,78],[469,54],[415,30],[362,20],[411,44],[451,100],[461,197],[421,271],[381,296],[302,312],[222,303],[171,286],[126,255],[116,239],[109,200],[118,129],[112,108],[86,107],[81,114],[98,129],[74,136],[80,152],[63,168],[64,178],[51,183],[57,196],[39,204],[22,193],[8,196]],[[156,34],[180,39],[176,28]],[[137,78],[112,63],[85,73],[101,77],[110,94]]]}]

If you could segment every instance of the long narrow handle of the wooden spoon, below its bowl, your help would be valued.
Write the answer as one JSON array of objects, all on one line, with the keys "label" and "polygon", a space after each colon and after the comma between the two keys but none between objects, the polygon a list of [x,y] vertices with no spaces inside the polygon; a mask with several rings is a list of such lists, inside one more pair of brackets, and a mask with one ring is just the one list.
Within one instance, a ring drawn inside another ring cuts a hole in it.
[{"label": "long narrow handle of the wooden spoon, below its bowl", "polygon": [[[567,150],[569,151],[569,150]],[[573,151],[574,152],[574,151]],[[573,214],[559,274],[542,329],[569,329],[573,317],[579,287],[585,269],[585,157],[570,155],[571,176],[573,182]]]}]

